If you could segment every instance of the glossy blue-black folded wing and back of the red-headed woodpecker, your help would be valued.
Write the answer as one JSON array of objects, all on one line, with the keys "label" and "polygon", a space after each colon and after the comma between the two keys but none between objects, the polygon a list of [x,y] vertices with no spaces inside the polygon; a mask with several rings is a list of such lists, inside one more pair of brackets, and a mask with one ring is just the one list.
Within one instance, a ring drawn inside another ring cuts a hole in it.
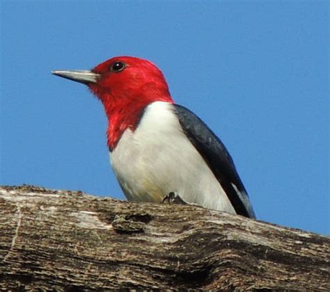
[{"label": "glossy blue-black folded wing and back of the red-headed woodpecker", "polygon": [[194,113],[178,104],[173,104],[173,107],[184,133],[209,165],[236,213],[256,218],[246,190],[237,174],[233,159],[225,145]]}]

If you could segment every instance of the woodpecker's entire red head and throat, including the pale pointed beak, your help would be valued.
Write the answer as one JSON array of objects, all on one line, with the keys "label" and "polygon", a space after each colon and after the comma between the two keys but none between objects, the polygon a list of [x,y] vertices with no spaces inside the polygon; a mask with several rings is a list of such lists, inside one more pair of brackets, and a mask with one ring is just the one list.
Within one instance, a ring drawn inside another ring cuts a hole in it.
[{"label": "woodpecker's entire red head and throat, including the pale pointed beak", "polygon": [[54,74],[85,83],[101,100],[107,113],[110,149],[120,136],[139,122],[143,109],[152,102],[173,103],[162,72],[150,61],[118,56],[91,71],[54,71]]}]

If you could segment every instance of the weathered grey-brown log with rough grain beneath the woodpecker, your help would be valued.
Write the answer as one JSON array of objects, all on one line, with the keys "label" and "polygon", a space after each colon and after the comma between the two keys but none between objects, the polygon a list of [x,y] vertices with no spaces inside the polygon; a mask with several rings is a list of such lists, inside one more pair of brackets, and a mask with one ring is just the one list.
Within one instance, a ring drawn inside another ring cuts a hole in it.
[{"label": "weathered grey-brown log with rough grain beneath the woodpecker", "polygon": [[203,209],[0,187],[0,289],[330,291],[330,238]]}]

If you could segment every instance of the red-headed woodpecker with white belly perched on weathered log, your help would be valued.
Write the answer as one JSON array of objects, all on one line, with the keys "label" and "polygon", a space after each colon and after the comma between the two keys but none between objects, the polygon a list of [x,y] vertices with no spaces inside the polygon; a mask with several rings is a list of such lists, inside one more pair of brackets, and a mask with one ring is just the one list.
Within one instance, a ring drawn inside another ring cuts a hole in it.
[{"label": "red-headed woodpecker with white belly perched on weathered log", "polygon": [[104,106],[110,163],[129,201],[184,204],[256,218],[233,159],[218,136],[175,104],[150,60],[116,56],[92,70],[53,70],[83,83]]}]

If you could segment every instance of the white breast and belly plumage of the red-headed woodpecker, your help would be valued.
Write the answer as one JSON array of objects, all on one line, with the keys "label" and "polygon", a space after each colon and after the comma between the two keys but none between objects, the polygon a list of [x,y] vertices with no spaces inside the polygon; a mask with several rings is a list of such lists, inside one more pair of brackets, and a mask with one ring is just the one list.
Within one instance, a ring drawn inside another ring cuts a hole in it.
[{"label": "white breast and belly plumage of the red-headed woodpecker", "polygon": [[235,213],[219,181],[182,132],[171,104],[150,104],[139,127],[123,133],[110,160],[128,200],[161,202],[173,191],[186,202]]}]

